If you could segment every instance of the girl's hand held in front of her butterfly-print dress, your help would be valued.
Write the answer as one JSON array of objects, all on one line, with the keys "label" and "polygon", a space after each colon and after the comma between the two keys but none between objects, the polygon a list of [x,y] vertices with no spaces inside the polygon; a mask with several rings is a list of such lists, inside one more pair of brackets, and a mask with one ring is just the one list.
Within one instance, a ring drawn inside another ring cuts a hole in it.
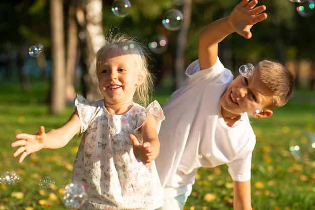
[{"label": "girl's hand held in front of her butterfly-print dress", "polygon": [[129,138],[132,142],[133,153],[138,161],[141,161],[146,167],[152,165],[152,148],[149,142],[144,142],[140,145],[137,137],[134,134],[129,134]]}]

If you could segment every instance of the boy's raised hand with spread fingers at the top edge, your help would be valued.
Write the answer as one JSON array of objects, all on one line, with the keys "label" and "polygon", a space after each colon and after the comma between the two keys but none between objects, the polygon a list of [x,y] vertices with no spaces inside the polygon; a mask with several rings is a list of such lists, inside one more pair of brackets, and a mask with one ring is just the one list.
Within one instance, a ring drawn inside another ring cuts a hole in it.
[{"label": "boy's raised hand with spread fingers at the top edge", "polygon": [[228,22],[235,32],[249,39],[252,37],[251,28],[267,18],[266,6],[256,7],[258,0],[243,0],[228,17]]}]

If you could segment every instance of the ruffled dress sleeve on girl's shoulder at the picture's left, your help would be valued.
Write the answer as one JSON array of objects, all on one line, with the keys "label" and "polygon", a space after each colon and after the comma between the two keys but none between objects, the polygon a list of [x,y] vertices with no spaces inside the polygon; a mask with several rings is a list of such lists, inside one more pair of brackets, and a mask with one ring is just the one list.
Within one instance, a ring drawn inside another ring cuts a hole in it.
[{"label": "ruffled dress sleeve on girl's shoulder at the picture's left", "polygon": [[82,95],[77,94],[73,100],[73,108],[77,110],[81,121],[81,130],[79,134],[81,135],[88,129],[90,121],[94,119],[94,115],[100,107],[96,106],[95,102],[90,103]]}]

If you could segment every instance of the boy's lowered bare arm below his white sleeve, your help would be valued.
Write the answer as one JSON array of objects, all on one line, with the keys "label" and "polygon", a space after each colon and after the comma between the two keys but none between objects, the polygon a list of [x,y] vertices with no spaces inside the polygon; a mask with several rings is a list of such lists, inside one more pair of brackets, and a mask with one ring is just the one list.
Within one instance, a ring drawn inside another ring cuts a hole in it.
[{"label": "boy's lowered bare arm below his white sleeve", "polygon": [[234,181],[234,210],[253,210],[251,201],[251,181]]}]

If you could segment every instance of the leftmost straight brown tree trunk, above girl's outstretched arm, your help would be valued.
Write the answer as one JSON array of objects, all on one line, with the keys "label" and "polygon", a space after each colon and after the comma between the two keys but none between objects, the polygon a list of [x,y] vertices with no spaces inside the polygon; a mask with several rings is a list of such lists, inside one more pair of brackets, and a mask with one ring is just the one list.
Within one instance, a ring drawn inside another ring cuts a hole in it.
[{"label": "leftmost straight brown tree trunk, above girl's outstretched arm", "polygon": [[60,113],[65,107],[65,50],[62,0],[50,0],[52,47],[52,83],[50,112]]}]

